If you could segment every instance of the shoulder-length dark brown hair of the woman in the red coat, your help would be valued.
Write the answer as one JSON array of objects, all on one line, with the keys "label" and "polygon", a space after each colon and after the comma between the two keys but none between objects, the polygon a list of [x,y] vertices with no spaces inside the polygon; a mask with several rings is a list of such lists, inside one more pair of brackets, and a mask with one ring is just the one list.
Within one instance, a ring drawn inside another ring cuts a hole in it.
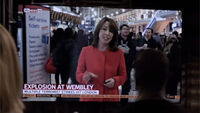
[{"label": "shoulder-length dark brown hair of the woman in the red coat", "polygon": [[99,32],[105,22],[109,22],[110,32],[113,33],[113,38],[109,42],[109,49],[111,51],[117,51],[118,50],[118,48],[117,48],[118,27],[114,20],[112,20],[111,18],[107,18],[107,17],[102,18],[101,21],[97,24],[95,31],[94,31],[94,40],[93,40],[92,46],[97,48],[97,45],[99,42]]}]

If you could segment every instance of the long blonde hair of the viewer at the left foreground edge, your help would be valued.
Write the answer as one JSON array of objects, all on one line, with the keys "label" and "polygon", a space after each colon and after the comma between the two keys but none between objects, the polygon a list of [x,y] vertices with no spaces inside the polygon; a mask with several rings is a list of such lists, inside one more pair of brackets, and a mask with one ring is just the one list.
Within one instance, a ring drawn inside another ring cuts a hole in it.
[{"label": "long blonde hair of the viewer at the left foreground edge", "polygon": [[10,33],[0,25],[0,113],[23,113],[21,89],[17,49]]}]

